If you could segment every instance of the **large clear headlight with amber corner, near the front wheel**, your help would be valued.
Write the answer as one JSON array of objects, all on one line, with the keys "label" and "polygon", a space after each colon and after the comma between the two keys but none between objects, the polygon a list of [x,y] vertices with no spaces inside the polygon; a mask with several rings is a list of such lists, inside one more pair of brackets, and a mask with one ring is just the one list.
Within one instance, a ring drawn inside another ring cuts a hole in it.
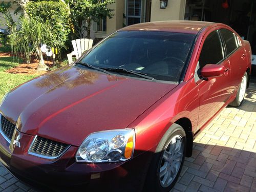
[{"label": "large clear headlight with amber corner, near the front wheel", "polygon": [[95,132],[82,142],[77,162],[117,162],[132,158],[135,144],[133,129]]}]

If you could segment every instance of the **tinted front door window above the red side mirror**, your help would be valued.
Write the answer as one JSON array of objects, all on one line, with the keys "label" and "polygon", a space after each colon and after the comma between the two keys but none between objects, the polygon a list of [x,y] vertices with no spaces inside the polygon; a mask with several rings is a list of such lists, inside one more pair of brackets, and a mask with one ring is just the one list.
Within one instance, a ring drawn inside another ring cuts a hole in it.
[{"label": "tinted front door window above the red side mirror", "polygon": [[211,32],[205,39],[199,57],[200,69],[206,64],[216,64],[223,59],[222,45],[217,31]]}]

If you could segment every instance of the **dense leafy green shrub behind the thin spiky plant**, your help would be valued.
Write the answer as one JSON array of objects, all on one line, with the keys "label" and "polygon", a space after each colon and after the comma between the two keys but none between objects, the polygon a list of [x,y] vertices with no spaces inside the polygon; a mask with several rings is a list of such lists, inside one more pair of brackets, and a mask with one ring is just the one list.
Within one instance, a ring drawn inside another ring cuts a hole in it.
[{"label": "dense leafy green shrub behind the thin spiky plant", "polygon": [[70,33],[70,13],[65,3],[41,1],[29,2],[26,12],[30,18],[41,20],[50,26],[55,41],[61,48],[65,47]]}]

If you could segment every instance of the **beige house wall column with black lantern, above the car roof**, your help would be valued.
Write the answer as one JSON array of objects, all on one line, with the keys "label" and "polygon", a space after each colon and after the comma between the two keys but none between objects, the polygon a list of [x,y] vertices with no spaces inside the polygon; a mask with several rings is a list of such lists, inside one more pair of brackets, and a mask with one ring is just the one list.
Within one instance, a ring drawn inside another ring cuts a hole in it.
[{"label": "beige house wall column with black lantern, above the car roof", "polygon": [[186,0],[168,0],[165,9],[160,9],[160,1],[152,0],[151,22],[160,20],[183,20],[185,14]]}]

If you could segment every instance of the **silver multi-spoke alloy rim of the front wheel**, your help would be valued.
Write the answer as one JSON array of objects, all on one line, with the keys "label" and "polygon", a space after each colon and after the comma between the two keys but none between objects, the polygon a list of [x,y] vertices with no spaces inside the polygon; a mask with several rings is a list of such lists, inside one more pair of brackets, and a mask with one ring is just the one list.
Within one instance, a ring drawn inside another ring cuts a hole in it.
[{"label": "silver multi-spoke alloy rim of the front wheel", "polygon": [[159,179],[162,187],[168,187],[176,178],[182,162],[183,147],[181,136],[176,135],[165,148],[159,170]]}]

